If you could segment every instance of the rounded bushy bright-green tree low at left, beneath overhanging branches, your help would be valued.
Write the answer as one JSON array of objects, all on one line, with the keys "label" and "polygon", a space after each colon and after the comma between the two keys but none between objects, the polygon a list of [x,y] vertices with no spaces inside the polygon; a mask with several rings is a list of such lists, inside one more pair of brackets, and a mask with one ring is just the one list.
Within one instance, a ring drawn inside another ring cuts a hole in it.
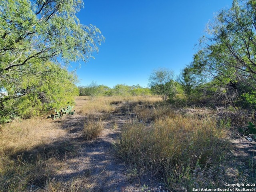
[{"label": "rounded bushy bright-green tree low at left, beneath overhanging branches", "polygon": [[74,96],[78,95],[75,74],[52,62],[37,64],[34,70],[42,71],[46,66],[47,75],[22,76],[16,86],[5,87],[8,95],[0,97],[0,122],[14,116],[28,118],[42,111],[74,104]]}]

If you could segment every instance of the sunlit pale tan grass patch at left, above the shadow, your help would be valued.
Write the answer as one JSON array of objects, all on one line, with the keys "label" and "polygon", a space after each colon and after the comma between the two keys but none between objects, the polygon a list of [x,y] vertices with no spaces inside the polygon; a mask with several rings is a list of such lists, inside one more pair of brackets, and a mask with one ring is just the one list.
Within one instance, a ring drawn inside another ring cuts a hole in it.
[{"label": "sunlit pale tan grass patch at left, above the shadow", "polygon": [[1,126],[0,154],[13,155],[30,150],[35,146],[49,144],[66,134],[61,123],[33,118],[16,120]]}]

